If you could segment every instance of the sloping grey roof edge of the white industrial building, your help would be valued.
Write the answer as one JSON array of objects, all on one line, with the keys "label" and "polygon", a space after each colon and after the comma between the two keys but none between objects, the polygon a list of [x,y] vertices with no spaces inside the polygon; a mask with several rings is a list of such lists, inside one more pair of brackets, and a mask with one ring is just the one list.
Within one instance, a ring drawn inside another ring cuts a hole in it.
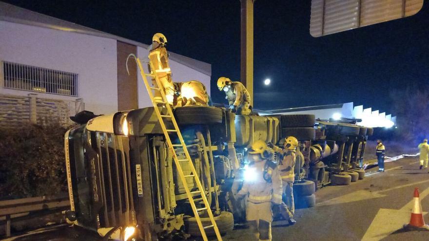
[{"label": "sloping grey roof edge of the white industrial building", "polygon": [[[76,23],[64,21],[61,19],[57,19],[54,17],[50,17],[44,14],[40,14],[28,9],[20,8],[12,4],[8,4],[0,1],[0,20],[38,26],[43,28],[50,28],[60,31],[78,33],[78,34],[86,34],[97,37],[106,37],[111,39],[116,39],[117,41],[133,44],[135,46],[147,48],[148,45],[144,43],[140,43],[134,40],[130,40],[124,37],[119,37],[113,34],[108,34],[105,32],[98,31],[96,29],[88,28]],[[186,56],[182,56],[176,53],[170,53],[170,59],[174,60],[180,64],[188,66],[198,72],[203,74],[207,74],[209,76],[212,75],[212,65],[209,63],[205,63],[193,58],[189,58]]]}]

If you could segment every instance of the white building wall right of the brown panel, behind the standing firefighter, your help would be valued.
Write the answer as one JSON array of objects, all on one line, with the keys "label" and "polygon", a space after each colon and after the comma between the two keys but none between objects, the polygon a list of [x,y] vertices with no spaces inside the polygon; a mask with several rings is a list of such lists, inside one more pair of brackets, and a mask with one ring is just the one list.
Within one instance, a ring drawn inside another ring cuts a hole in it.
[{"label": "white building wall right of the brown panel, behind the standing firefighter", "polygon": [[[142,47],[137,47],[137,57],[140,58],[141,61],[148,60],[149,51]],[[130,64],[130,63],[129,63]],[[134,62],[132,62],[134,64]],[[206,86],[207,93],[210,95],[210,75],[203,74],[198,72],[188,66],[180,64],[176,61],[169,59],[169,64],[171,71],[173,73],[173,81],[174,82],[186,82],[189,80],[198,80]],[[145,72],[147,73],[147,63],[142,63]],[[149,99],[149,95],[146,91],[146,88],[143,83],[143,79],[138,73],[138,108],[152,106],[152,103]],[[149,80],[150,81],[150,80]],[[150,83],[151,84],[151,83]]]}]

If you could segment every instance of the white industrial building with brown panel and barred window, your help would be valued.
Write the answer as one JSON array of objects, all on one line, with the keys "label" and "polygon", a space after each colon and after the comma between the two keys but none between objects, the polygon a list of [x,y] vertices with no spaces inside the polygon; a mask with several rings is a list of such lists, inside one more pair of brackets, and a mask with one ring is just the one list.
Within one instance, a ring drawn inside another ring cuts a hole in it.
[{"label": "white industrial building with brown panel and barred window", "polygon": [[[159,30],[162,32],[162,30]],[[148,42],[155,33],[147,33]],[[168,37],[168,36],[167,36]],[[148,45],[0,2],[0,125],[39,123],[88,110],[151,106],[134,61]],[[211,65],[170,52],[173,80],[199,80],[210,94]],[[144,63],[143,63],[144,64]]]}]

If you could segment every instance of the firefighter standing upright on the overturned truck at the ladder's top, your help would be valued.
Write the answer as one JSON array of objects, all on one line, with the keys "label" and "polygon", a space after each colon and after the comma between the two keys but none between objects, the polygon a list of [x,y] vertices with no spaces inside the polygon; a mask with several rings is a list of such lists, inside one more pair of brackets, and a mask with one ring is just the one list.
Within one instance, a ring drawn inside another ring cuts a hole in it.
[{"label": "firefighter standing upright on the overturned truck at the ladder's top", "polygon": [[[168,53],[165,48],[167,44],[167,38],[160,33],[156,33],[152,37],[152,44],[149,46],[149,61],[148,64],[149,72],[151,74],[157,74],[158,80],[161,86],[156,85],[155,78],[152,78],[152,84],[155,88],[160,88],[161,91],[164,90],[167,102],[170,105],[173,105],[175,88],[173,85],[173,80],[171,78],[171,69],[168,65]],[[151,69],[151,66],[154,68]],[[155,99],[161,100],[161,93],[158,90],[155,90]]]}]

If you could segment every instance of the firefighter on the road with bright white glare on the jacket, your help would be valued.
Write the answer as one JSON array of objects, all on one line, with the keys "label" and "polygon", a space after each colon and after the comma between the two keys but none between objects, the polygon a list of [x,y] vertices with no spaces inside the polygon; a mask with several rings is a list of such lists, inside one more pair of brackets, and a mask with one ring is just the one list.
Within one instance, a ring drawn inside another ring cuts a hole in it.
[{"label": "firefighter on the road with bright white glare on the jacket", "polygon": [[273,151],[263,141],[255,141],[248,153],[249,165],[238,198],[247,196],[246,220],[260,241],[271,241],[272,204],[281,204],[282,184]]}]

